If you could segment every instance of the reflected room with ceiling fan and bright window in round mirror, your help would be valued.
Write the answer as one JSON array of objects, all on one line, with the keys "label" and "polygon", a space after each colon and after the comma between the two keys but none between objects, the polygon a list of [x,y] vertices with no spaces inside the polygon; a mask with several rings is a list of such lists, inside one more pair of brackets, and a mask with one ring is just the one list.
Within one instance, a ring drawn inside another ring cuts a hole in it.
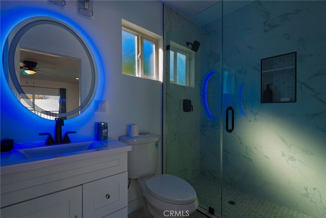
[{"label": "reflected room with ceiling fan and bright window in round mirror", "polygon": [[[79,106],[78,59],[24,49],[20,49],[19,56],[19,83],[31,100],[25,101],[20,96],[20,102],[26,108],[39,116],[55,119],[57,114]],[[33,64],[36,66],[31,67]],[[26,73],[25,70],[29,68],[33,68],[35,74]],[[37,111],[36,105],[43,111]]]}]

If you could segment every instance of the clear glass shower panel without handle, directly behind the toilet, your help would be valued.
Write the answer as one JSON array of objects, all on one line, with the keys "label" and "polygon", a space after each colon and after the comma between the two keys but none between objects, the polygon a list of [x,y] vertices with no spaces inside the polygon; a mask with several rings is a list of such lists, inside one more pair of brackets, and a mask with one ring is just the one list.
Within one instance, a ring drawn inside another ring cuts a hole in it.
[{"label": "clear glass shower panel without handle, directly behind the toilet", "polygon": [[221,9],[219,2],[167,32],[164,86],[165,172],[188,181],[201,209],[215,215],[222,187]]}]

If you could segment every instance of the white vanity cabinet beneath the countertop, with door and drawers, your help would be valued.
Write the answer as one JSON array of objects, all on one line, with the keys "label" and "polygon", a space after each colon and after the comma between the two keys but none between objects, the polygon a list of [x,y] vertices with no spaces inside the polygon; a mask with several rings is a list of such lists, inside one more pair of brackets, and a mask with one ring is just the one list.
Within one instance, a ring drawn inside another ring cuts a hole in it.
[{"label": "white vanity cabinet beneath the countertop, with door and drawers", "polygon": [[127,217],[127,150],[2,174],[1,217]]}]

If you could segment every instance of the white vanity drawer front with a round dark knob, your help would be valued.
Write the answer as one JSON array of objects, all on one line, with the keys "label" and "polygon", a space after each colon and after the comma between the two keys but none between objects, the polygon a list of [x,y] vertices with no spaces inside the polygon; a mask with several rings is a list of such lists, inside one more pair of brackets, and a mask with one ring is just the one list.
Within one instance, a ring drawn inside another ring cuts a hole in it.
[{"label": "white vanity drawer front with a round dark knob", "polygon": [[128,172],[83,184],[83,217],[103,217],[128,205]]}]

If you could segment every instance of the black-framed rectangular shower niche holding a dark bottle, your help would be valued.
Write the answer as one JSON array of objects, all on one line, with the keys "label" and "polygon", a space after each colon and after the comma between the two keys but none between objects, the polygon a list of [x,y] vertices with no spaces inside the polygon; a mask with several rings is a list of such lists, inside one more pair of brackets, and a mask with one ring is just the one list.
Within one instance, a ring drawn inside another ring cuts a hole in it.
[{"label": "black-framed rectangular shower niche holding a dark bottle", "polygon": [[260,102],[296,102],[296,52],[261,59]]}]

